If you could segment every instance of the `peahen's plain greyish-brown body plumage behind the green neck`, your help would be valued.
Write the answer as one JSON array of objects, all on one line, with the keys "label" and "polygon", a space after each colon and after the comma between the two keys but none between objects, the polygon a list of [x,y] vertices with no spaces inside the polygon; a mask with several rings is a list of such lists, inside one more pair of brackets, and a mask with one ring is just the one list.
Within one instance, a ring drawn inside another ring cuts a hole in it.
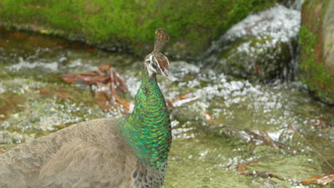
[{"label": "peahen's plain greyish-brown body plumage behind the green neck", "polygon": [[138,160],[117,120],[81,122],[6,152],[0,187],[130,187]]}]

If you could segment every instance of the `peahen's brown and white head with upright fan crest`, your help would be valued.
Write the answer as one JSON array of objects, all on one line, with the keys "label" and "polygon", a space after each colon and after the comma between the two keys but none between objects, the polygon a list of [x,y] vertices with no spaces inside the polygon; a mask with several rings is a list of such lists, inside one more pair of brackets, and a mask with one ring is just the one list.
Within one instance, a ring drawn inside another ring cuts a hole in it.
[{"label": "peahen's brown and white head with upright fan crest", "polygon": [[154,50],[145,58],[145,68],[148,71],[148,76],[163,75],[168,80],[171,80],[169,75],[169,61],[166,56],[160,53],[161,48],[169,40],[169,36],[162,28],[156,30],[156,41],[154,42]]}]

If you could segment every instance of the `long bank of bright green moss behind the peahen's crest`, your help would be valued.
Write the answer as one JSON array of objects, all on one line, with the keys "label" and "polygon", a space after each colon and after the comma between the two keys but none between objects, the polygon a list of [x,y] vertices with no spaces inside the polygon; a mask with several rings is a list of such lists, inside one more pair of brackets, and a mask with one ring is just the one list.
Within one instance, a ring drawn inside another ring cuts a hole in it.
[{"label": "long bank of bright green moss behind the peahen's crest", "polygon": [[151,51],[154,31],[171,36],[172,55],[204,51],[217,38],[253,11],[276,0],[197,1],[0,1],[0,24],[6,27],[83,40],[111,51]]}]

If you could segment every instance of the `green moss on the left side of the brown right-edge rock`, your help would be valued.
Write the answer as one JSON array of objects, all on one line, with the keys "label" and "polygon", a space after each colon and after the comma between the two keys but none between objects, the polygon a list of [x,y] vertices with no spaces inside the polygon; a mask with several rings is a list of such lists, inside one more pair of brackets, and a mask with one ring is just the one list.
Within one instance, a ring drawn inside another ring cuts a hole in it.
[{"label": "green moss on the left side of the brown right-edge rock", "polygon": [[[312,1],[307,5],[307,9],[312,9],[320,1]],[[327,9],[329,1],[325,1],[321,11],[323,17]],[[310,90],[322,100],[329,103],[334,103],[334,78],[325,73],[325,66],[323,63],[315,61],[315,46],[318,38],[319,29],[321,28],[321,19],[316,19],[313,23],[304,24],[300,28],[300,78],[306,83]],[[317,28],[317,29],[315,29]]]}]

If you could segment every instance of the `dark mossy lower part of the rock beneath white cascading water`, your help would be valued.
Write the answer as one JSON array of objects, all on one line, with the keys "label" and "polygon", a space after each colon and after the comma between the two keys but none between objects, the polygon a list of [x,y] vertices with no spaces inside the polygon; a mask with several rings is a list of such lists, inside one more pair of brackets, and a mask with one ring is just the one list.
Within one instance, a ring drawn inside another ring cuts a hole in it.
[{"label": "dark mossy lower part of the rock beneath white cascading water", "polygon": [[285,80],[293,77],[293,60],[296,38],[267,46],[270,36],[239,38],[221,52],[214,68],[228,75],[249,80]]}]

